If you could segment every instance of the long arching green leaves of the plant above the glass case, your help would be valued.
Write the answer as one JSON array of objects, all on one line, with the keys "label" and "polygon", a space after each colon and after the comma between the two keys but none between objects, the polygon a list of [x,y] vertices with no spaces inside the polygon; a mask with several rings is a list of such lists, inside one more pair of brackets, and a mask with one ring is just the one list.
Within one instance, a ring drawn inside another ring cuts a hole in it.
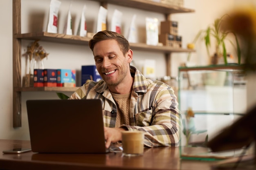
[{"label": "long arching green leaves of the plant above the glass case", "polygon": [[[232,42],[231,40],[229,40],[229,42],[236,49],[236,53],[237,53],[237,56],[238,56],[238,64],[240,64],[240,62],[241,62],[241,51],[240,51],[240,46],[239,46],[238,38],[236,37],[236,34],[234,32],[232,32],[231,30],[222,29],[222,26],[225,26],[225,24],[226,24],[226,22],[224,20],[225,17],[229,17],[229,15],[225,14],[221,18],[217,18],[216,20],[214,20],[214,23],[211,26],[207,27],[207,29],[200,30],[198,32],[198,34],[195,36],[195,39],[193,40],[193,42],[189,43],[187,45],[187,47],[189,49],[193,49],[194,46],[195,46],[194,45],[195,42],[201,36],[203,36],[208,56],[211,57],[211,64],[217,64],[218,59],[221,58],[221,57],[223,57],[224,63],[228,64],[228,62],[227,62],[228,54],[227,54],[227,50],[226,50],[225,40],[228,40],[227,35],[232,33],[235,36],[236,44],[234,44],[234,42]],[[211,37],[214,38],[215,41],[216,41],[215,52],[214,52],[213,56],[211,56],[210,52],[209,52],[209,48],[211,46]],[[191,54],[189,54],[189,56],[188,56],[188,61],[190,59],[190,55]]]}]

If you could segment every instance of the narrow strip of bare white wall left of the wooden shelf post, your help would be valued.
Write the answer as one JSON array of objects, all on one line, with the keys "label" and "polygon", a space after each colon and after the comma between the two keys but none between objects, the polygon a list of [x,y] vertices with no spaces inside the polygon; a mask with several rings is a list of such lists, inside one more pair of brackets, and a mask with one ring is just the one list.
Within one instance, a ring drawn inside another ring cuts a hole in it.
[{"label": "narrow strip of bare white wall left of the wooden shelf post", "polygon": [[12,126],[12,1],[0,1],[0,139],[15,137]]}]

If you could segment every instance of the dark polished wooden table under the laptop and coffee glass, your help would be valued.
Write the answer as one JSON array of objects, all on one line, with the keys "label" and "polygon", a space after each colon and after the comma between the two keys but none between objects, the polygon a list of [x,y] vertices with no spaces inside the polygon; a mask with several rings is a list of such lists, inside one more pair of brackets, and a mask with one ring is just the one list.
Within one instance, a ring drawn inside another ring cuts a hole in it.
[{"label": "dark polished wooden table under the laptop and coffee glass", "polygon": [[178,147],[145,148],[144,155],[2,154],[2,150],[29,148],[30,141],[0,140],[0,170],[210,170],[213,162],[180,160]]}]

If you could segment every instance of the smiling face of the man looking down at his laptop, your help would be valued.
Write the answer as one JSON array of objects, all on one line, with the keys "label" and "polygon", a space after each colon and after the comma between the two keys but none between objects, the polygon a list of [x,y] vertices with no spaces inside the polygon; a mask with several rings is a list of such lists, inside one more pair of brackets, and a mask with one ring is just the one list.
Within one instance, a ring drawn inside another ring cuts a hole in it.
[{"label": "smiling face of the man looking down at his laptop", "polygon": [[94,45],[94,60],[96,68],[108,86],[124,83],[130,76],[129,63],[132,61],[132,51],[122,53],[116,40],[103,40]]}]

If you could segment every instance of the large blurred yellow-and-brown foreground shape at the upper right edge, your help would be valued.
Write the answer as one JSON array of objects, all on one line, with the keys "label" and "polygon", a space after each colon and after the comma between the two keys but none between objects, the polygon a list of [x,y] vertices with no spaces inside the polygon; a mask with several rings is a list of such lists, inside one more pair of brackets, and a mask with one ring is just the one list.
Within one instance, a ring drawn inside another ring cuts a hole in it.
[{"label": "large blurred yellow-and-brown foreground shape at the upper right edge", "polygon": [[224,30],[233,31],[240,41],[246,72],[256,71],[256,7],[237,7],[229,13]]}]

